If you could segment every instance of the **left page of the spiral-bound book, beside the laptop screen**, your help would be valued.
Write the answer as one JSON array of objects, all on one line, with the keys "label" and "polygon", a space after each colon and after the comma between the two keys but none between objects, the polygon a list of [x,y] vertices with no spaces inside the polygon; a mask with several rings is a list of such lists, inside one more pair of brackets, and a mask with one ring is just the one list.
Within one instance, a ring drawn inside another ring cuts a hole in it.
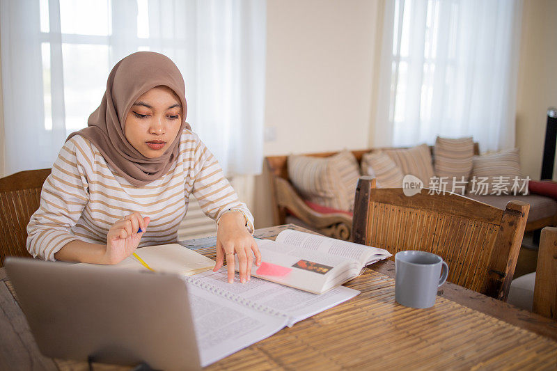
[{"label": "left page of the spiral-bound book, beside the laptop screen", "polygon": [[286,317],[246,308],[196,285],[189,283],[187,290],[203,367],[272,336],[286,325]]}]

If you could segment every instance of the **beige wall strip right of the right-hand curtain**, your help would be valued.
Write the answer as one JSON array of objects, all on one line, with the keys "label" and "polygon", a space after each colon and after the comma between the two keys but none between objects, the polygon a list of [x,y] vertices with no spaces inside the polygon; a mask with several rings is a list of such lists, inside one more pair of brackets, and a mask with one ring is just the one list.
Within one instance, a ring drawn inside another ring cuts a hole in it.
[{"label": "beige wall strip right of the right-hand curtain", "polygon": [[[547,108],[557,106],[557,1],[524,1],[517,147],[524,175],[540,179]],[[557,166],[554,179],[557,179]]]}]

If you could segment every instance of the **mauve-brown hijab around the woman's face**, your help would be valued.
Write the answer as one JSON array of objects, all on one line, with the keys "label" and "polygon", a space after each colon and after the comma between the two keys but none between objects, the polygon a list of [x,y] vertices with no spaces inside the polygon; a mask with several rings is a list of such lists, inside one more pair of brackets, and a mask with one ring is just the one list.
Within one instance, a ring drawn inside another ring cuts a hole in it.
[{"label": "mauve-brown hijab around the woman's face", "polygon": [[[149,159],[127,141],[124,125],[137,98],[160,85],[168,86],[180,97],[182,126],[168,150],[161,157]],[[88,127],[73,132],[66,141],[74,135],[84,136],[119,175],[141,187],[166,174],[178,157],[180,135],[185,128],[191,129],[186,123],[186,114],[186,88],[178,67],[162,54],[136,52],[116,63],[99,108],[89,116]]]}]

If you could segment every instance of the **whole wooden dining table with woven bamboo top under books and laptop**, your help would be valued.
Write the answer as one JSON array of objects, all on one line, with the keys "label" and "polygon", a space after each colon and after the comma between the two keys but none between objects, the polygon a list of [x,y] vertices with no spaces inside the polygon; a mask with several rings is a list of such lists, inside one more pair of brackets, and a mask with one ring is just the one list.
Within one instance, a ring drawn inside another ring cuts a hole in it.
[{"label": "whole wooden dining table with woven bamboo top under books and laptop", "polygon": [[[285,228],[256,231],[274,238]],[[182,245],[214,258],[214,237]],[[556,369],[557,322],[446,283],[432,308],[394,300],[394,264],[372,265],[346,285],[354,299],[285,328],[208,370]],[[42,356],[0,269],[0,370],[87,370],[84,362]],[[95,364],[95,370],[126,368]]]}]

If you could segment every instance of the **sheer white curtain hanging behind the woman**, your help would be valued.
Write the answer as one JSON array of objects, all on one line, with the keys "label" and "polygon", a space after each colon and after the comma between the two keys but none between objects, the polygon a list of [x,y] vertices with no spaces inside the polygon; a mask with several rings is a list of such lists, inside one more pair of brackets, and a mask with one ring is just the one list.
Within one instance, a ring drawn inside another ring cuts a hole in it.
[{"label": "sheer white curtain hanging behind the woman", "polygon": [[228,175],[262,167],[266,1],[0,0],[6,175],[52,166],[138,50],[182,72],[187,121]]}]

